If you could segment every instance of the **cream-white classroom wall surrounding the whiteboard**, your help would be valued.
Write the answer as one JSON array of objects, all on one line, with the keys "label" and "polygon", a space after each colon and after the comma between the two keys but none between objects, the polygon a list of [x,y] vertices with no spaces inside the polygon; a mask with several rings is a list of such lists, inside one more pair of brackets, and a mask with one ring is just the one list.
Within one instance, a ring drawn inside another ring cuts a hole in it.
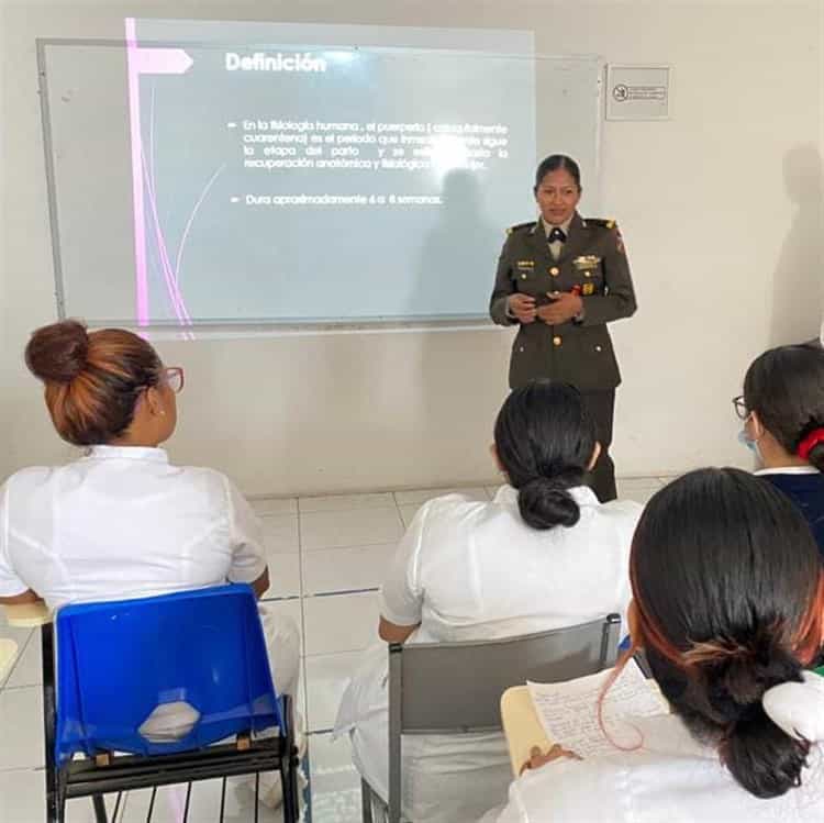
[{"label": "cream-white classroom wall surrounding the whiteboard", "polygon": [[[625,378],[614,449],[622,474],[745,463],[730,398],[746,365],[771,343],[817,333],[815,0],[2,8],[0,476],[70,454],[21,358],[30,331],[55,311],[34,37],[118,37],[126,14],[534,29],[543,53],[672,64],[671,121],[603,130],[603,201],[620,219],[641,304],[613,326]],[[493,265],[488,275],[491,285]],[[490,479],[509,340],[465,332],[163,343],[164,359],[187,369],[169,447],[177,460],[222,468],[249,493]]]}]

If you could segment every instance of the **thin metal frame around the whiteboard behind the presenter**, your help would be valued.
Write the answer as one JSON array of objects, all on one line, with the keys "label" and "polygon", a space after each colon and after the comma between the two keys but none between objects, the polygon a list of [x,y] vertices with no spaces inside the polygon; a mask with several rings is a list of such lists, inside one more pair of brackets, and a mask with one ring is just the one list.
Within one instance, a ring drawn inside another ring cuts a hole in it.
[{"label": "thin metal frame around the whiteboard behind the presenter", "polygon": [[[176,47],[179,43],[170,41],[151,41],[153,47]],[[46,173],[46,199],[48,203],[49,236],[52,241],[52,262],[54,267],[55,279],[55,302],[57,308],[58,320],[66,320],[66,291],[64,283],[63,256],[60,253],[60,231],[59,213],[57,208],[57,176],[54,163],[54,140],[52,136],[52,114],[49,108],[49,88],[48,75],[46,70],[46,48],[49,46],[108,46],[108,47],[126,47],[125,40],[120,38],[94,38],[94,37],[36,37],[35,53],[37,63],[37,91],[40,96],[41,126],[43,131],[43,151]],[[194,43],[188,42],[187,46],[212,47],[214,43]],[[263,47],[265,43],[248,44],[250,47]],[[357,46],[349,46],[357,51]],[[370,51],[381,51],[380,47],[369,47]],[[394,51],[387,47],[385,51]],[[450,51],[450,49],[432,49],[432,51]],[[474,53],[468,54],[486,54]],[[497,55],[504,57],[505,55]],[[520,56],[520,55],[513,55]],[[598,186],[598,199],[601,196],[601,159],[602,159],[602,111],[605,105],[604,88],[605,71],[608,70],[606,60],[593,54],[578,55],[530,55],[532,59],[557,59],[557,60],[591,60],[595,68],[595,94],[593,99],[595,108],[595,179]],[[536,101],[537,104],[537,101]],[[536,135],[537,136],[537,135]],[[541,159],[538,152],[536,163]],[[145,336],[155,340],[193,340],[196,337],[259,337],[259,336],[314,336],[326,334],[380,334],[388,332],[464,332],[464,331],[498,331],[503,330],[492,323],[488,314],[466,314],[455,318],[439,319],[383,319],[376,318],[341,320],[334,322],[307,321],[299,322],[294,320],[277,321],[236,321],[236,322],[193,322],[191,325],[182,326],[179,324],[148,324],[137,325],[136,323],[125,322],[123,320],[96,320],[89,324],[92,329],[103,329],[107,326],[118,325],[121,327],[132,329]]]}]

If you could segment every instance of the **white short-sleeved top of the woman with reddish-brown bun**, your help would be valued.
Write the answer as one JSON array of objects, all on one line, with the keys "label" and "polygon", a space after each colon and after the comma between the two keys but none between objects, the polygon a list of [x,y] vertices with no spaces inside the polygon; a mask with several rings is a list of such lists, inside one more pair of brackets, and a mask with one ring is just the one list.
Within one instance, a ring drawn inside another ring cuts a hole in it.
[{"label": "white short-sleeved top of the woman with reddish-brown bun", "polygon": [[252,582],[263,546],[226,477],[172,466],[162,448],[96,446],[0,489],[0,597],[33,589],[51,609]]}]

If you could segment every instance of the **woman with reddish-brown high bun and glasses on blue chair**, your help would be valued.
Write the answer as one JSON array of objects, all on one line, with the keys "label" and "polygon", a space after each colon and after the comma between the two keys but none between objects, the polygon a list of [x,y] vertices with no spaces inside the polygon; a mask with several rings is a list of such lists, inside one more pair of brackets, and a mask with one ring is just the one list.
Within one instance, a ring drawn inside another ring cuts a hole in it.
[{"label": "woman with reddish-brown high bun and glasses on blue chair", "polygon": [[[57,433],[86,451],[0,488],[0,603],[42,598],[57,609],[226,581],[258,598],[267,590],[260,523],[243,496],[219,471],[174,466],[158,448],[175,431],[181,368],[166,368],[136,334],[87,333],[76,321],[36,331],[25,359]],[[298,629],[260,610],[275,686],[296,694]]]}]

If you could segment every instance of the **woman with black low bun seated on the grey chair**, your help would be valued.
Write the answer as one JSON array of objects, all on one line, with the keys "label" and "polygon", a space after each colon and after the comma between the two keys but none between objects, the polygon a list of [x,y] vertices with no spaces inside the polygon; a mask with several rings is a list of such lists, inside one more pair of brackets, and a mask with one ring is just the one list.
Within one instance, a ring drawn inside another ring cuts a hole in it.
[{"label": "woman with black low bun seated on the grey chair", "polygon": [[[515,389],[498,415],[492,452],[508,479],[494,500],[449,494],[415,515],[381,590],[383,641],[493,640],[624,616],[642,509],[602,504],[584,485],[599,445],[579,392],[548,380]],[[381,645],[354,676],[336,723],[349,731],[355,765],[385,799],[386,677]],[[410,820],[475,820],[509,782],[501,734],[407,737],[403,756]]]}]

